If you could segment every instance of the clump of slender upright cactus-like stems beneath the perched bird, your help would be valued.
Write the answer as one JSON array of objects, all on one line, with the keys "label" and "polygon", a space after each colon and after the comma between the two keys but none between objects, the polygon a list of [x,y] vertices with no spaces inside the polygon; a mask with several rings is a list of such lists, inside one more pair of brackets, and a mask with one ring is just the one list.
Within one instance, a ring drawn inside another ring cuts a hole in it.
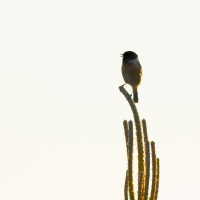
[{"label": "clump of slender upright cactus-like stems beneath the perched bird", "polygon": [[[124,89],[123,86],[119,87],[122,94],[126,97],[134,116],[137,150],[138,150],[138,191],[135,192],[135,185],[133,181],[134,169],[134,134],[133,134],[133,122],[130,120],[124,120],[124,134],[126,139],[127,160],[128,169],[125,176],[124,185],[124,199],[125,200],[157,200],[158,188],[159,188],[159,173],[160,173],[160,160],[156,157],[155,142],[149,142],[146,121],[143,119],[140,121],[138,111],[135,103],[131,99],[131,96]],[[151,147],[151,149],[150,149]],[[152,166],[150,166],[150,160]],[[150,187],[150,169],[151,173],[151,187]],[[151,188],[151,189],[150,189]]]}]

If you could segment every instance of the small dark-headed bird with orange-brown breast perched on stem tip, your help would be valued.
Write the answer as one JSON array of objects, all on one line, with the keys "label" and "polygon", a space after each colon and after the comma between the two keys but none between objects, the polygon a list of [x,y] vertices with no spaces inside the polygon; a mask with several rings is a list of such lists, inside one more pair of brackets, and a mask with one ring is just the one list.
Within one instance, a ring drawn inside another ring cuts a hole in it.
[{"label": "small dark-headed bird with orange-brown breast perched on stem tip", "polygon": [[138,60],[138,55],[133,51],[126,51],[121,54],[122,76],[125,83],[131,85],[133,89],[133,100],[138,103],[138,86],[142,80],[142,66]]}]

